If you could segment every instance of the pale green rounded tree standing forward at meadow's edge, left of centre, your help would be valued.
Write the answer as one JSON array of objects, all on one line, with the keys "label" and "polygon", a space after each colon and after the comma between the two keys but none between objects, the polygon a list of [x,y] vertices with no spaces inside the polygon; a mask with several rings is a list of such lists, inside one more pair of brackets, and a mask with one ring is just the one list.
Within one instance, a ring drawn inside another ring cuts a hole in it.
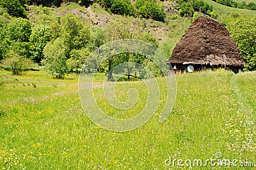
[{"label": "pale green rounded tree standing forward at meadow's edge, left of centre", "polygon": [[55,41],[50,41],[44,48],[44,57],[42,64],[45,66],[47,73],[54,78],[63,78],[68,71],[66,64],[66,50],[67,47],[61,38]]}]

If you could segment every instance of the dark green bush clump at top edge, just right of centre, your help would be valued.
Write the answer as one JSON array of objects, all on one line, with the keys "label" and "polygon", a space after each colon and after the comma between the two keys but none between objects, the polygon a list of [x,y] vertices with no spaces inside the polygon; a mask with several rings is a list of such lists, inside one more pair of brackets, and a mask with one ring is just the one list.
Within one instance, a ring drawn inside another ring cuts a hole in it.
[{"label": "dark green bush clump at top edge, just right of centre", "polygon": [[135,3],[138,15],[143,18],[152,18],[164,22],[166,14],[164,13],[163,4],[153,0],[138,0]]}]

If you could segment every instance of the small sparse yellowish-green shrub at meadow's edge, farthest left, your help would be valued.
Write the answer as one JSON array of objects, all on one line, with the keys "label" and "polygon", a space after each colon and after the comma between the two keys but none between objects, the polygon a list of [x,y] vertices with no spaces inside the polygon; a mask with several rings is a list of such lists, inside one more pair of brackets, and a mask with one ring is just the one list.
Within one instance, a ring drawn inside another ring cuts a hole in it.
[{"label": "small sparse yellowish-green shrub at meadow's edge, farthest left", "polygon": [[29,67],[31,68],[31,66],[33,66],[33,62],[20,56],[19,53],[11,50],[10,52],[6,53],[4,59],[1,60],[1,65],[4,67],[11,67],[12,74],[20,75]]}]

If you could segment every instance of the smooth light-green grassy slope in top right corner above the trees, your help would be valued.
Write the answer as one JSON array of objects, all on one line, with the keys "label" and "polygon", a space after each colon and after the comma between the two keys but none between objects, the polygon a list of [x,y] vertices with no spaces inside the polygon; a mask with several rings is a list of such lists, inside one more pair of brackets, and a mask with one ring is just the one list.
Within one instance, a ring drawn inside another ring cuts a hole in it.
[{"label": "smooth light-green grassy slope in top right corner above the trees", "polygon": [[204,1],[211,4],[214,10],[217,10],[218,12],[220,12],[221,15],[225,15],[225,13],[232,13],[232,12],[237,12],[237,13],[246,14],[246,15],[256,15],[256,11],[232,8],[229,6],[218,4],[211,0],[204,0]]}]

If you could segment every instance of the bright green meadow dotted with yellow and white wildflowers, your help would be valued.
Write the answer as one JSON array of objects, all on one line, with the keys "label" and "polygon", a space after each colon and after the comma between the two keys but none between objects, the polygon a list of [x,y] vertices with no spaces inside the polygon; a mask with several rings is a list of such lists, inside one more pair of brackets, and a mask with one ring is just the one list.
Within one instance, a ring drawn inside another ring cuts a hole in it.
[{"label": "bright green meadow dotted with yellow and white wildflowers", "polygon": [[[96,79],[103,77],[97,74]],[[142,127],[111,132],[84,114],[78,76],[54,80],[42,72],[12,76],[0,71],[0,169],[173,169],[177,162],[165,165],[170,157],[206,160],[216,152],[221,159],[256,163],[256,73],[205,71],[176,78],[177,98],[166,121],[159,123],[160,104]],[[163,79],[158,82],[161,87]],[[147,98],[141,81],[117,86],[124,91],[138,87],[141,99]],[[96,99],[104,100],[100,95]],[[113,110],[104,101],[100,106]],[[212,168],[223,167],[193,167]]]}]

